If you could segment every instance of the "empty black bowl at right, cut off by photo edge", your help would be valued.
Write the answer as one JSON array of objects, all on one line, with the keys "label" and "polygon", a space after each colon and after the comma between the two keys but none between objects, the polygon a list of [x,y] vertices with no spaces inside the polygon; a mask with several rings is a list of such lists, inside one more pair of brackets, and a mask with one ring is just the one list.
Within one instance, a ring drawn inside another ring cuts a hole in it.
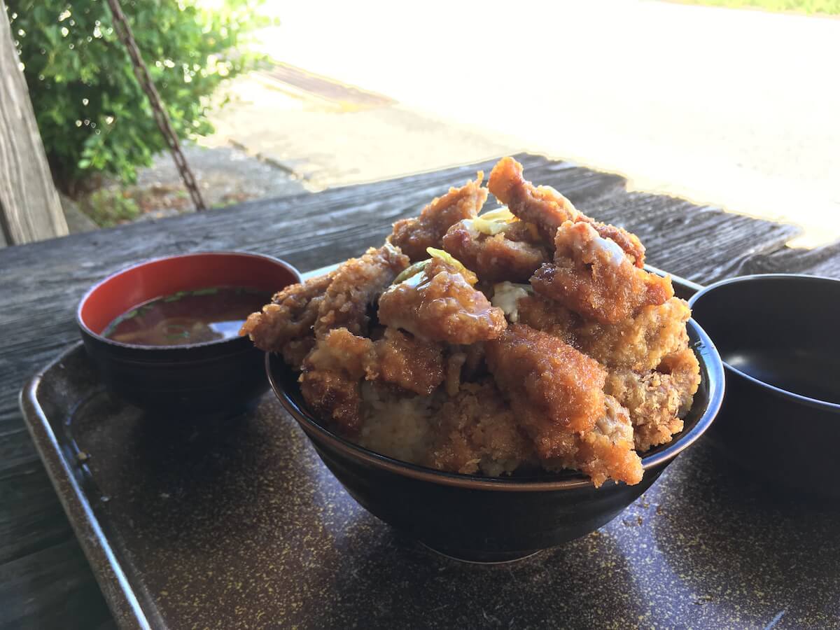
[{"label": "empty black bowl at right, cut off by photo edge", "polygon": [[743,276],[690,304],[726,366],[711,444],[771,483],[840,496],[840,281]]}]

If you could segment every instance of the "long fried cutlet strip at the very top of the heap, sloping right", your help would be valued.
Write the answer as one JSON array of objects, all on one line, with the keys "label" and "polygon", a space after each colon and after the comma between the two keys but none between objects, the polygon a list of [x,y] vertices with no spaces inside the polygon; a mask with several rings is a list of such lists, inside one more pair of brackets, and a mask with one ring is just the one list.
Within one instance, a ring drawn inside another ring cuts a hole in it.
[{"label": "long fried cutlet strip at the very top of the heap, sloping right", "polygon": [[635,234],[615,225],[593,221],[551,186],[534,186],[522,176],[522,165],[517,160],[511,157],[499,160],[490,173],[487,186],[517,217],[536,225],[549,247],[554,244],[557,228],[566,221],[591,223],[601,237],[618,244],[633,265],[644,265],[644,246]]}]

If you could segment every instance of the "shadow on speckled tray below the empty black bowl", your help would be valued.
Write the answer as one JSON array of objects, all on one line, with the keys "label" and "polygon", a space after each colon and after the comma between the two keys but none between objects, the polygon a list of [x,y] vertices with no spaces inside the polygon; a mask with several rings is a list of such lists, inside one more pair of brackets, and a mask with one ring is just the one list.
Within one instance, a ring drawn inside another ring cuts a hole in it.
[{"label": "shadow on speckled tray below the empty black bowl", "polygon": [[697,446],[680,490],[672,517],[685,534],[654,521],[654,538],[690,588],[732,616],[767,615],[769,623],[781,615],[778,627],[840,624],[836,500],[765,485],[709,444]]}]

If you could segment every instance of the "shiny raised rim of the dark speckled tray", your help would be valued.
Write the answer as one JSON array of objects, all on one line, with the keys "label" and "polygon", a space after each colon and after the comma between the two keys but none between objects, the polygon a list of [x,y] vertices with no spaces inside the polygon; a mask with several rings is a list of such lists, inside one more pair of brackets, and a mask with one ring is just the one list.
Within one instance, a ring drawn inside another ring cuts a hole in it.
[{"label": "shiny raised rim of the dark speckled tray", "polygon": [[[325,265],[301,274],[301,280],[307,281],[316,276],[322,276],[334,270],[340,263]],[[645,269],[659,276],[669,275],[651,265]],[[703,286],[696,282],[671,275],[675,293],[678,297],[687,299]],[[73,532],[79,541],[88,564],[102,591],[108,608],[118,627],[128,630],[152,630],[155,627],[165,627],[160,619],[153,624],[148,611],[139,601],[138,593],[132,585],[129,576],[123,570],[123,564],[118,553],[112,548],[108,535],[103,531],[96,513],[81,490],[76,475],[72,470],[73,463],[68,461],[64,451],[55,437],[50,419],[38,400],[39,387],[48,371],[59,365],[69,354],[81,349],[81,341],[76,341],[63,349],[55,359],[41,368],[24,384],[18,395],[18,406],[24,416],[24,424],[29,430],[29,436],[35,444],[39,458],[44,463],[47,475],[50,477],[55,494],[58,495],[61,507],[70,521]]]}]

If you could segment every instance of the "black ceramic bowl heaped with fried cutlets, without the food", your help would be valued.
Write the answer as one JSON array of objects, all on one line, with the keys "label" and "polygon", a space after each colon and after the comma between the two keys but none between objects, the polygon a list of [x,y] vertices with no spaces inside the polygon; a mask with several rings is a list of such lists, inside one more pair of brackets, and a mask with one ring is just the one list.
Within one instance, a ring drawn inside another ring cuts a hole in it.
[{"label": "black ceramic bowl heaped with fried cutlets, without the food", "polygon": [[265,369],[277,397],[300,423],[318,455],[362,507],[432,549],[459,559],[500,562],[579,538],[611,521],[662,474],[665,466],[706,431],[723,398],[723,365],[706,333],[690,321],[701,386],[670,444],[643,459],[636,486],[607,481],[597,488],[578,473],[488,478],[407,464],[323,428],[307,410],[297,374],[267,355]]}]

